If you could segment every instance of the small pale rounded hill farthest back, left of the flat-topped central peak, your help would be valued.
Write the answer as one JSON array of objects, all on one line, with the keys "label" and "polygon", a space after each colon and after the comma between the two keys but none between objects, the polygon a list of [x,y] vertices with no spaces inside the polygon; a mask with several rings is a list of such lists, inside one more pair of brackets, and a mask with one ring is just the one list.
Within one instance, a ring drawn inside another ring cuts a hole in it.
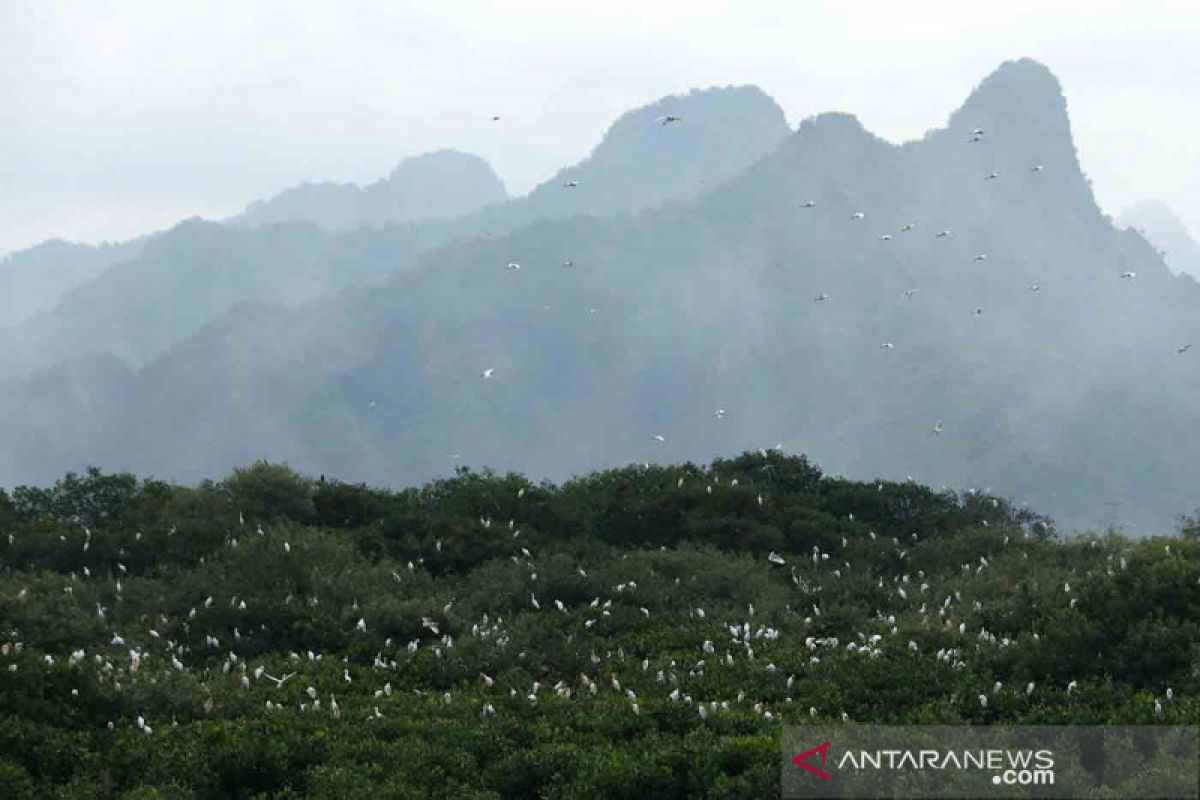
[{"label": "small pale rounded hill farthest back, left of the flat-topped central peak", "polygon": [[406,158],[390,175],[367,186],[304,184],[256,200],[233,222],[311,222],[328,230],[350,230],[450,219],[506,199],[504,184],[486,161],[456,150],[438,150]]}]

